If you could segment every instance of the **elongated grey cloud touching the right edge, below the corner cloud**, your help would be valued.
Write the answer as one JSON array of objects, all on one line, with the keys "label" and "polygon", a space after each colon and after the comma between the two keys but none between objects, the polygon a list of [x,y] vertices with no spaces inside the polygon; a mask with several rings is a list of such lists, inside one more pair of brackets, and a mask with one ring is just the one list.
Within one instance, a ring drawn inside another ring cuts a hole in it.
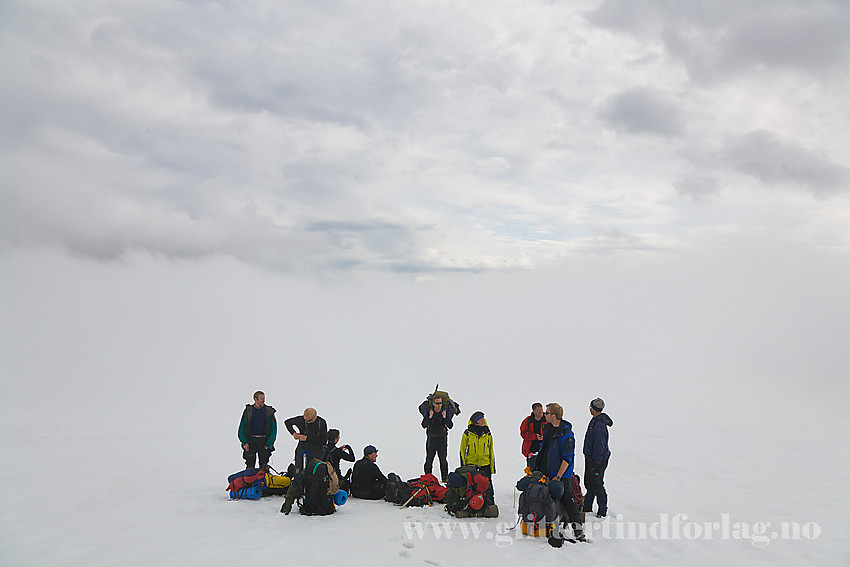
[{"label": "elongated grey cloud touching the right edge, below the corner cloud", "polygon": [[766,185],[796,185],[816,196],[850,190],[850,168],[763,130],[732,138],[722,158]]}]

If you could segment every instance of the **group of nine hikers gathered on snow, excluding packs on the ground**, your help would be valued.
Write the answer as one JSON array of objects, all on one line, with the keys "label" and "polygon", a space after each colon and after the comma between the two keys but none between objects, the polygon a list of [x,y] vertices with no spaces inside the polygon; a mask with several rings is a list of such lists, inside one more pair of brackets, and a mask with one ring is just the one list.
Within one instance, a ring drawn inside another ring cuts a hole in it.
[{"label": "group of nine hikers gathered on snow, excluding packs on the ground", "polygon": [[[608,427],[613,420],[602,410],[605,402],[596,398],[590,402],[591,420],[584,436],[584,512],[591,512],[594,501],[597,503],[597,516],[608,513],[608,494],[605,490],[605,471],[611,451],[608,448]],[[454,426],[457,406],[447,396],[435,392],[420,405],[421,425],[425,430],[425,474],[432,474],[434,459],[440,467],[440,478],[446,482],[449,474],[448,432]],[[328,430],[327,422],[318,416],[314,408],[307,408],[302,415],[284,421],[284,426],[292,438],[297,441],[295,447],[294,474],[300,474],[310,458],[331,463],[340,479],[341,487],[355,498],[378,500],[384,496],[387,477],[377,465],[378,449],[367,445],[363,457],[343,475],[340,462],[354,462],[354,451],[350,445],[337,446],[340,432]],[[553,497],[560,500],[561,509],[573,524],[581,524],[580,510],[572,496],[569,483],[575,470],[575,434],[570,422],[564,420],[564,410],[557,403],[536,402],[531,406],[531,414],[520,424],[522,454],[530,471],[540,471],[550,479]],[[277,438],[277,420],[275,409],[265,404],[265,394],[254,393],[254,403],[247,404],[239,422],[239,441],[242,456],[248,468],[259,467],[268,470],[269,458],[274,451]],[[484,412],[474,412],[467,423],[460,441],[460,464],[474,465],[478,472],[490,480],[486,494],[489,503],[493,503],[492,475],[496,474],[496,456],[493,450],[493,436],[484,417]],[[291,509],[292,502],[287,498]],[[284,504],[284,509],[286,504]],[[576,532],[580,535],[579,532]]]}]

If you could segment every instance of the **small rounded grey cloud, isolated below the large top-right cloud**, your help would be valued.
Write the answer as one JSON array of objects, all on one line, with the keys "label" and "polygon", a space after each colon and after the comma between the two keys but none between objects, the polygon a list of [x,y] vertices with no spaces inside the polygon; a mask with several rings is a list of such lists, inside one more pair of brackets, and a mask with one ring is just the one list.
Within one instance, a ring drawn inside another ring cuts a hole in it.
[{"label": "small rounded grey cloud, isolated below the large top-right cloud", "polygon": [[634,87],[612,95],[600,116],[614,129],[633,134],[677,136],[684,130],[679,108],[663,93]]}]

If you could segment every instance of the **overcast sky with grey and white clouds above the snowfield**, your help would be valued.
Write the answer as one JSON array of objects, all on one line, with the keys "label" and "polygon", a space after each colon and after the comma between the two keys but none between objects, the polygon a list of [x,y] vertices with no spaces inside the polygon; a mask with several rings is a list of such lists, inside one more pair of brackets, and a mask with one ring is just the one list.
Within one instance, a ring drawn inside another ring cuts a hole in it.
[{"label": "overcast sky with grey and white clouds above the snowfield", "polygon": [[0,240],[272,270],[850,247],[850,5],[0,8]]}]

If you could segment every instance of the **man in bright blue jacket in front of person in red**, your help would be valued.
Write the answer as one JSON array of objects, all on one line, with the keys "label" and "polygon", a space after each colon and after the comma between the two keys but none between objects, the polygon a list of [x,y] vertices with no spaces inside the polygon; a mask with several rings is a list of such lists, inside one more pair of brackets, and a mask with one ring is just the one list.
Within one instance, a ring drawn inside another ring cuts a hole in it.
[{"label": "man in bright blue jacket in front of person in red", "polygon": [[546,404],[546,425],[543,440],[534,468],[549,477],[549,492],[561,504],[561,521],[566,515],[577,540],[584,541],[581,512],[573,499],[570,482],[575,468],[576,439],[573,426],[564,421],[564,408],[560,404]]}]

